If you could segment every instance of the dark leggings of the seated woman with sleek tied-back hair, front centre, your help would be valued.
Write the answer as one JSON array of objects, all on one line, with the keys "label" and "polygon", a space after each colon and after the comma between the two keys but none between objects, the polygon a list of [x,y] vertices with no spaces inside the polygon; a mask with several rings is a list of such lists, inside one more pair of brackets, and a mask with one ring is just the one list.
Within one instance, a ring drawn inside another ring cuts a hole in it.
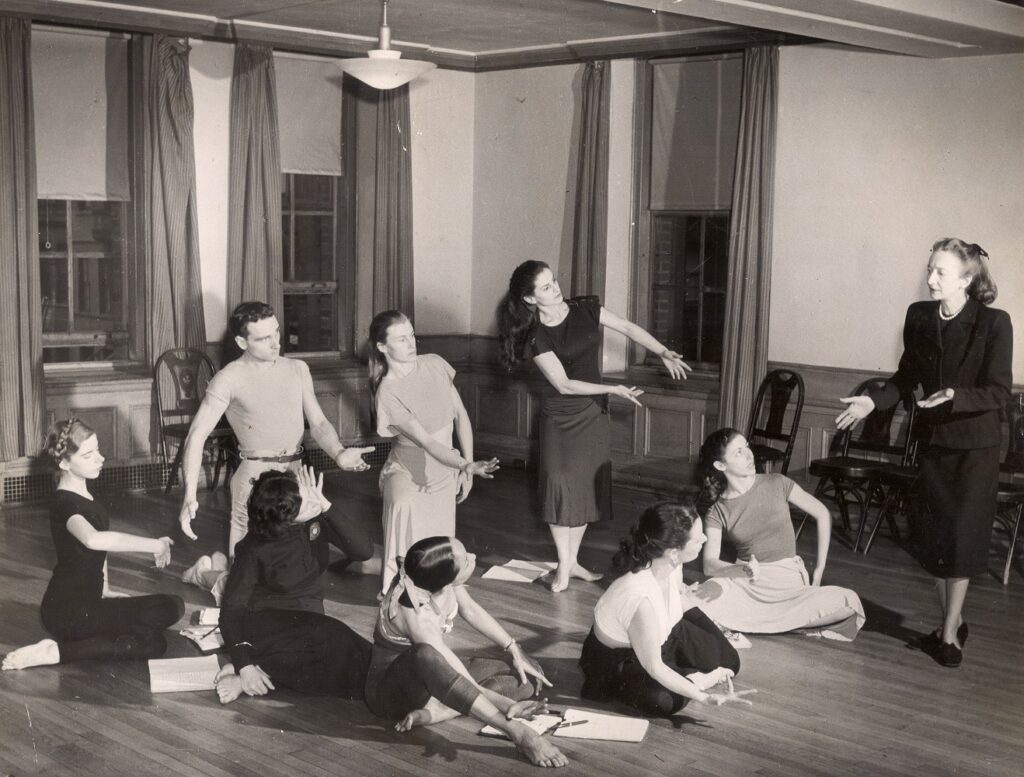
[{"label": "dark leggings of the seated woman with sleek tied-back hair, front centre", "polygon": [[[513,699],[528,698],[532,687],[521,684],[511,667],[496,658],[472,658],[466,668],[479,685]],[[431,697],[462,715],[469,715],[480,692],[430,645],[404,650],[374,645],[367,678],[367,705],[381,718],[400,719],[424,706]]]}]

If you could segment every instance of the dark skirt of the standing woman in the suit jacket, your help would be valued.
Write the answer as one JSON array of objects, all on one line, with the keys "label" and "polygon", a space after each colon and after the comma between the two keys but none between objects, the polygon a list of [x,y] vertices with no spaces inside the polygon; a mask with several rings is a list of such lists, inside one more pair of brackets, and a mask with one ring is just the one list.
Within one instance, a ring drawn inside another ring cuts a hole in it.
[{"label": "dark skirt of the standing woman in the suit jacket", "polygon": [[928,511],[914,555],[936,577],[971,577],[988,569],[999,448],[932,446],[921,455],[921,494]]}]

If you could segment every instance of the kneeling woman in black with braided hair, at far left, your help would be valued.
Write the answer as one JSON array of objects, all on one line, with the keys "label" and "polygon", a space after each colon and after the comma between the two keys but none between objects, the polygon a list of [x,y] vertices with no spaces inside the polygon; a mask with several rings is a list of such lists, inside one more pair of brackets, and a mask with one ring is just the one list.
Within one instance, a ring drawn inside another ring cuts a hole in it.
[{"label": "kneeling woman in black with braided hair, at far left", "polygon": [[110,516],[89,493],[103,456],[95,433],[78,419],[50,427],[43,456],[60,473],[50,504],[50,533],[57,564],[43,603],[43,627],[56,637],[12,650],[4,670],[24,670],[84,659],[121,661],[159,658],[167,650],[165,629],[184,612],[179,597],[132,596],[110,590],[106,554],[152,554],[158,568],[171,560],[169,537],[111,531]]}]

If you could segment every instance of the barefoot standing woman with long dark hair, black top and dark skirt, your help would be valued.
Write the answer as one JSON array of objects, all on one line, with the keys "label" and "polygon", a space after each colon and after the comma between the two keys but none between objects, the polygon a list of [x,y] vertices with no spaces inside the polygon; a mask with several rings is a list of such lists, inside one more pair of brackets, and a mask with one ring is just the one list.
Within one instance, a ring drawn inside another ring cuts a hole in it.
[{"label": "barefoot standing woman with long dark hair, black top and dark skirt", "polygon": [[635,386],[601,382],[601,327],[620,332],[658,354],[673,378],[690,368],[645,330],[601,306],[596,297],[562,298],[544,262],[516,267],[499,308],[502,362],[511,370],[526,356],[550,384],[541,404],[541,500],[558,568],[551,584],[564,591],[570,577],[600,575],[577,560],[587,524],[611,517],[608,396],[639,405]]}]

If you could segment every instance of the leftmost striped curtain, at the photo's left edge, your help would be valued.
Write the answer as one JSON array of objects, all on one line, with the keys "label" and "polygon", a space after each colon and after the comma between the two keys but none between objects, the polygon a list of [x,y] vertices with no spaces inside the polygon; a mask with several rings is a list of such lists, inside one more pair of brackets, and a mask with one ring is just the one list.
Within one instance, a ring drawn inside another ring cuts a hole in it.
[{"label": "leftmost striped curtain, at the photo's left edge", "polygon": [[0,461],[43,441],[32,24],[0,16]]}]

